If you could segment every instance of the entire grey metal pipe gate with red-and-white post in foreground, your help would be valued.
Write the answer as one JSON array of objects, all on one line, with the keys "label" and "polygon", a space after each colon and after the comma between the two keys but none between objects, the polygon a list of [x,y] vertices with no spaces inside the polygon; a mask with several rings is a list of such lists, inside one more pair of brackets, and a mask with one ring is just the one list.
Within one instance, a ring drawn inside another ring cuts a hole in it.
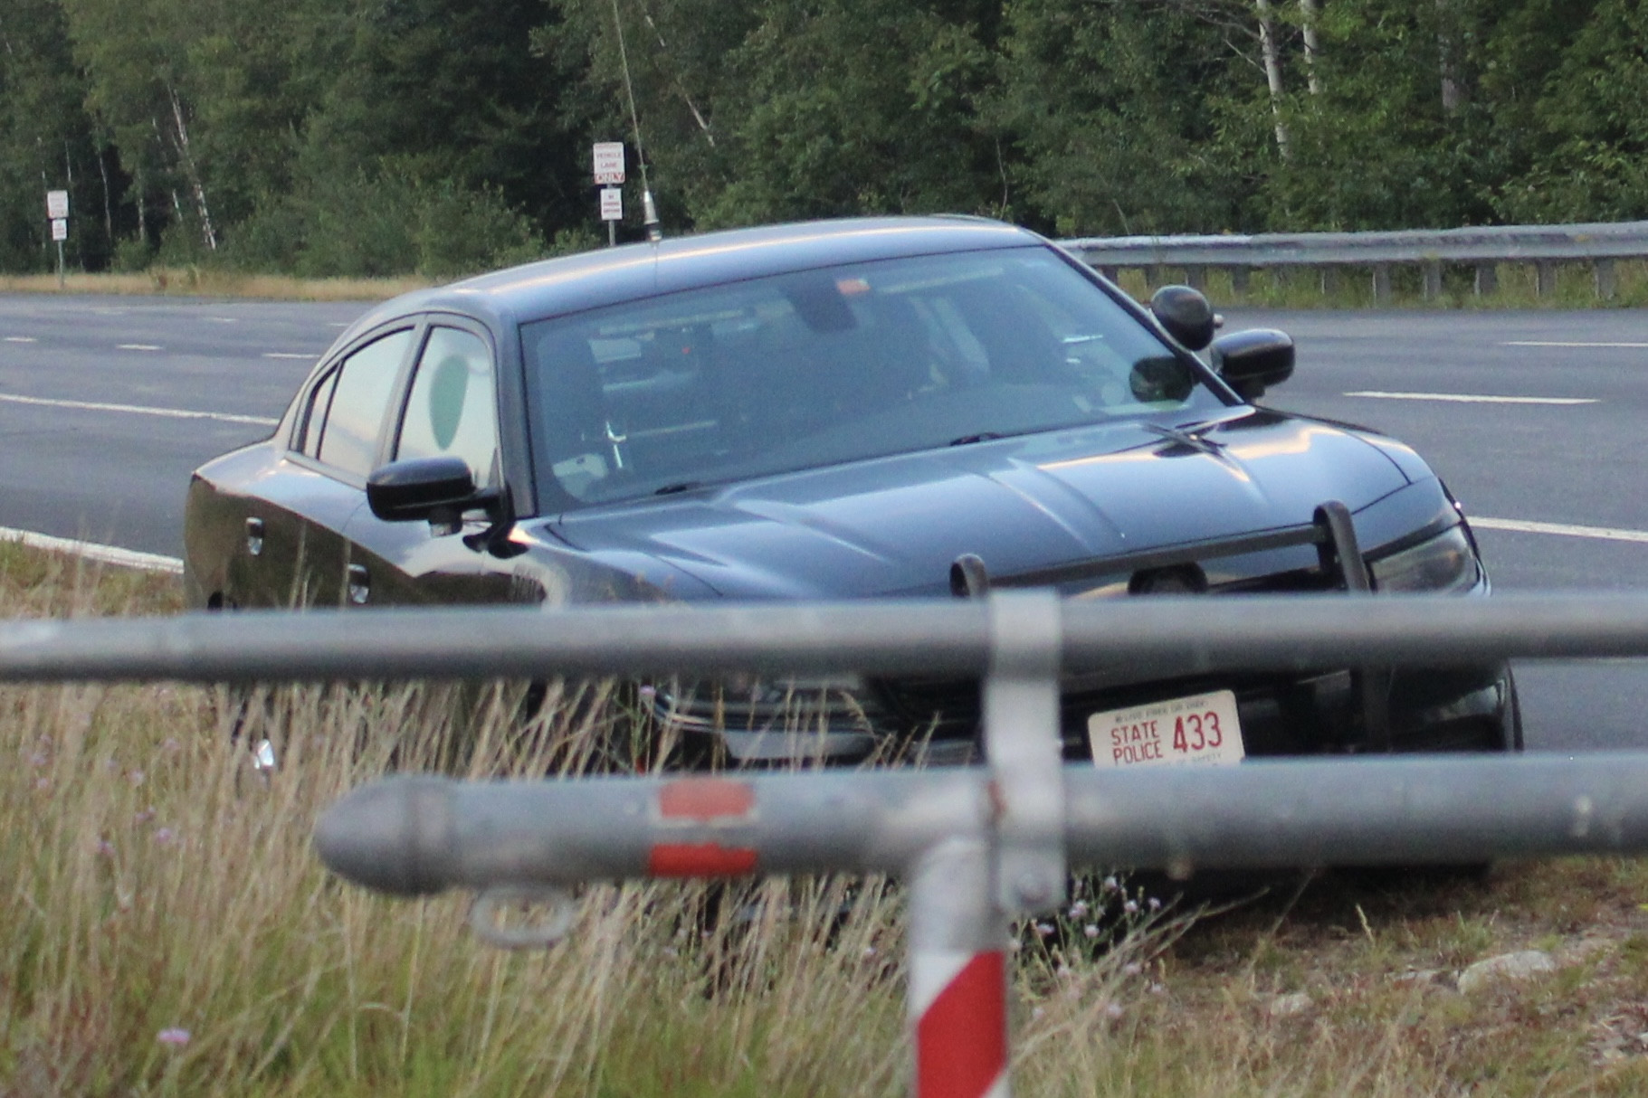
[{"label": "entire grey metal pipe gate with red-and-white post in foreground", "polygon": [[[923,1098],[1007,1095],[1010,919],[1070,866],[1475,863],[1648,853],[1648,754],[1248,761],[1098,770],[1060,757],[1063,668],[1477,663],[1648,655],[1648,596],[1252,596],[191,614],[10,622],[0,682],[361,680],[730,670],[982,677],[982,767],[461,784],[387,779],[333,805],[321,858],[399,896],[480,892],[499,945],[574,924],[585,881],[887,872],[906,884]],[[521,899],[547,922],[498,922]]]}]

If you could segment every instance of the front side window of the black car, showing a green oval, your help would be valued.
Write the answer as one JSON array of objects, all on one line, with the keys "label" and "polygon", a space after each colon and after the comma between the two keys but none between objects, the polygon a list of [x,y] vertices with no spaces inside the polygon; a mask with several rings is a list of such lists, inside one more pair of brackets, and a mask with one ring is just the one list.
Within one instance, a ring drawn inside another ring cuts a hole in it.
[{"label": "front side window of the black car, showing a green oval", "polygon": [[498,486],[498,395],[486,341],[460,328],[432,328],[396,443],[405,458],[463,458],[476,487]]}]

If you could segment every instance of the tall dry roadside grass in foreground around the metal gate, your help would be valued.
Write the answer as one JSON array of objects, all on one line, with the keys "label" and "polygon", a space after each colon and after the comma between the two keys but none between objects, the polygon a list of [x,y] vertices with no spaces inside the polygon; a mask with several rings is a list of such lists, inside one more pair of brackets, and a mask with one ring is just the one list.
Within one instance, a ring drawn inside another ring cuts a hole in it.
[{"label": "tall dry roadside grass in foreground around the metal gate", "polygon": [[[170,612],[170,583],[0,550],[7,616]],[[461,897],[384,900],[316,864],[315,815],[344,790],[460,756],[476,774],[539,775],[602,734],[602,706],[552,700],[522,731],[498,688],[470,696],[456,728],[432,716],[455,711],[438,691],[283,690],[249,716],[250,736],[280,744],[272,779],[229,741],[234,711],[165,685],[0,688],[0,1093],[903,1093],[887,882],[592,887],[562,945],[501,953],[463,928]],[[1099,920],[1122,896],[1088,889],[1086,910],[1020,938],[1018,1093],[1648,1085],[1635,863],[1337,879],[1195,925]],[[1470,961],[1528,947],[1559,971],[1452,986]],[[1280,998],[1299,993],[1309,1003]]]}]

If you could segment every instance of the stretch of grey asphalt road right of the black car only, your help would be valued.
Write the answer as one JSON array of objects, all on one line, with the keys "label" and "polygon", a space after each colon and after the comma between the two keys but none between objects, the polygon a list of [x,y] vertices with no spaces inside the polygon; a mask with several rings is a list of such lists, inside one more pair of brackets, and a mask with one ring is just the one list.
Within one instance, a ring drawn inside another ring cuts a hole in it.
[{"label": "stretch of grey asphalt road right of the black car only", "polygon": [[[1226,319],[1299,344],[1267,403],[1376,426],[1426,456],[1472,515],[1496,591],[1648,588],[1648,314]],[[1536,528],[1506,528],[1523,523]],[[1528,662],[1516,677],[1529,747],[1648,746],[1648,663]]]}]

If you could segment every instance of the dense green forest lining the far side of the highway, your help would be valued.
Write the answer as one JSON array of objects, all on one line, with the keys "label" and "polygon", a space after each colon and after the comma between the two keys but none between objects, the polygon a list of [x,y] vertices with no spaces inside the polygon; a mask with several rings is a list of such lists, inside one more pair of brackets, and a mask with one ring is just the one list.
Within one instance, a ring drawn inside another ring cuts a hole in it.
[{"label": "dense green forest lining the far side of the highway", "polygon": [[1641,0],[0,0],[0,270],[54,265],[46,189],[81,270],[590,247],[618,28],[669,232],[1648,217]]}]

